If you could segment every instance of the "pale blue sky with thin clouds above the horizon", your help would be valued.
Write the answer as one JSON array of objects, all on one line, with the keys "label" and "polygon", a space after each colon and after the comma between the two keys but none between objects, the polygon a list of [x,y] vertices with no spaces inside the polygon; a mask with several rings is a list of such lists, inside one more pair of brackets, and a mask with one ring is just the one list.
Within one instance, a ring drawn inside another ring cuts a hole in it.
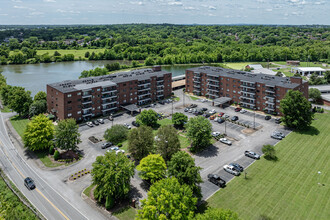
[{"label": "pale blue sky with thin clouds above the horizon", "polygon": [[0,24],[325,24],[330,0],[0,0]]}]

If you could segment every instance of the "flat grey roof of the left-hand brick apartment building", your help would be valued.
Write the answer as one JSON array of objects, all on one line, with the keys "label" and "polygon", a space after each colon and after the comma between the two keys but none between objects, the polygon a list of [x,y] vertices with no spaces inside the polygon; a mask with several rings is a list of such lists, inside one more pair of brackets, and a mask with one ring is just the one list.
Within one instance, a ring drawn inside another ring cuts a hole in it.
[{"label": "flat grey roof of the left-hand brick apartment building", "polygon": [[60,92],[69,93],[79,90],[88,90],[95,87],[117,86],[117,83],[132,80],[143,81],[150,79],[153,76],[163,77],[165,74],[169,74],[169,72],[153,71],[152,69],[148,68],[127,72],[118,72],[104,76],[87,77],[77,80],[66,80],[48,85],[57,89]]}]

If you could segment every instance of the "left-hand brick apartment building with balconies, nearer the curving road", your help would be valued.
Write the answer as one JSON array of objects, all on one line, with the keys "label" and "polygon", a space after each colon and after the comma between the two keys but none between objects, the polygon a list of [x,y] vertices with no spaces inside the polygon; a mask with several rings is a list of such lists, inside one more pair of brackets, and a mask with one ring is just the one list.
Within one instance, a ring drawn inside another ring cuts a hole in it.
[{"label": "left-hand brick apartment building with balconies, nearer the curving road", "polygon": [[57,119],[89,120],[106,116],[122,106],[144,105],[169,97],[172,73],[140,69],[47,85],[48,111]]}]

